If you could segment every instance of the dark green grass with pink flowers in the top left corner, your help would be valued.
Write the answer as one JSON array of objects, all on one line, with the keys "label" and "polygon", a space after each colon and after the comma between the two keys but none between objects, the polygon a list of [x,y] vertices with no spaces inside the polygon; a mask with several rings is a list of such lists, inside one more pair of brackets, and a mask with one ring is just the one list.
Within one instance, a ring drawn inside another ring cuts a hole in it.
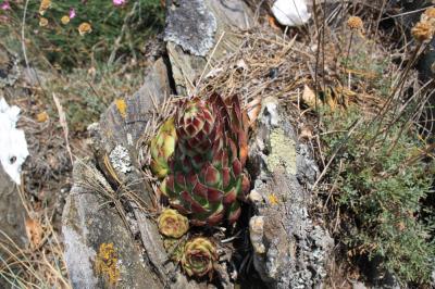
[{"label": "dark green grass with pink flowers in the top left corner", "polygon": [[[112,63],[126,54],[136,58],[146,40],[164,25],[164,10],[159,0],[130,0],[122,7],[113,5],[111,0],[52,1],[44,15],[39,13],[39,5],[40,1],[28,1],[25,23],[28,49],[34,52],[35,61],[42,56],[63,70],[107,63],[111,55]],[[17,38],[25,1],[11,1],[11,8],[0,12],[10,24],[0,35],[13,34]],[[69,15],[71,8],[75,9],[76,16],[64,25],[61,18]],[[41,17],[47,18],[47,26],[39,25]],[[91,33],[80,36],[78,26],[84,22],[90,24]]]}]

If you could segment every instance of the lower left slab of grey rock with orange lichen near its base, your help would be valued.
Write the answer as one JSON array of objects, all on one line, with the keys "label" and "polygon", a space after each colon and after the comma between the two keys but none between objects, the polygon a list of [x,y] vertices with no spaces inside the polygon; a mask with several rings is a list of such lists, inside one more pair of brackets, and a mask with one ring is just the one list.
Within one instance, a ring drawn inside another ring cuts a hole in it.
[{"label": "lower left slab of grey rock with orange lichen near its base", "polygon": [[[65,261],[74,288],[162,288],[119,212],[110,205],[114,194],[91,162],[76,162],[74,187],[67,198],[62,234]],[[115,260],[104,259],[104,246],[113,246]],[[99,261],[98,261],[99,260]],[[97,262],[104,268],[98,269]]]}]

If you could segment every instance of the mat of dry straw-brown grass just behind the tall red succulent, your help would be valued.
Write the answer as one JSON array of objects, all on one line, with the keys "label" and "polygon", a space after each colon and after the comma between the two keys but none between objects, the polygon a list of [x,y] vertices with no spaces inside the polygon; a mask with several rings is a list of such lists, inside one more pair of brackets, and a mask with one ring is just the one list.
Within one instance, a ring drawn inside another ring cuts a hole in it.
[{"label": "mat of dry straw-brown grass just behind the tall red succulent", "polygon": [[[343,46],[339,37],[336,33],[325,37],[327,45],[324,54],[319,52],[322,63],[316,63],[318,51],[308,38],[298,41],[298,36],[285,39],[271,30],[252,30],[244,35],[243,45],[236,53],[213,66],[197,90],[200,96],[212,92],[239,95],[251,120],[261,99],[274,97],[287,106],[295,121],[301,121],[301,108],[309,106],[302,98],[306,86],[318,93],[331,88],[335,102],[340,102],[338,98],[346,98],[343,102],[347,104],[356,103],[370,111],[380,109],[383,100],[360,79],[368,77],[369,73],[363,67],[341,67]],[[378,53],[377,58],[383,58],[387,52],[381,50]],[[316,68],[320,65],[323,68]],[[357,76],[353,77],[353,84],[343,81],[338,76],[341,71]],[[370,74],[373,78],[382,77],[381,73]],[[319,99],[318,105],[321,103]]]}]

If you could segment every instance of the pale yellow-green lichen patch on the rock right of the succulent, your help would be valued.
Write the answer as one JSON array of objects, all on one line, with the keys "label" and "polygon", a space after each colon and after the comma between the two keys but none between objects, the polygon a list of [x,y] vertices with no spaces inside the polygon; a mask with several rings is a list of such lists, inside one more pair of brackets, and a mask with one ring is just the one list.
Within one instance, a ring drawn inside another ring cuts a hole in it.
[{"label": "pale yellow-green lichen patch on the rock right of the succulent", "polygon": [[296,142],[287,137],[282,128],[273,129],[270,136],[271,153],[268,155],[268,167],[274,172],[284,166],[287,174],[296,175]]}]

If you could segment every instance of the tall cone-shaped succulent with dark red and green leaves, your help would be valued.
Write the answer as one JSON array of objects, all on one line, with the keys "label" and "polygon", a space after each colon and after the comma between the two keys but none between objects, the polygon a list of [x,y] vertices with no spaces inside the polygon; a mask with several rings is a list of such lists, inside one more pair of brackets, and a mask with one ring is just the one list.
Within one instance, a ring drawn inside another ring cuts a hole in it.
[{"label": "tall cone-shaped succulent with dark red and green leaves", "polygon": [[183,102],[175,115],[175,150],[161,186],[171,206],[196,226],[237,221],[238,200],[250,186],[244,173],[248,137],[239,99],[224,101],[213,95]]}]

